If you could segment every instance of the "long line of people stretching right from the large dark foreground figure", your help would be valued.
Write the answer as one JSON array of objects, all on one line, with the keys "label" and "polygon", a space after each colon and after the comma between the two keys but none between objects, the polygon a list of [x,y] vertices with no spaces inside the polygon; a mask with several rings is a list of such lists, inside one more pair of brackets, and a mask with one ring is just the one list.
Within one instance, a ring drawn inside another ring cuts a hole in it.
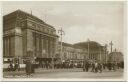
[{"label": "long line of people stretching right from the large dark foreground figure", "polygon": [[[54,69],[73,69],[73,68],[83,68],[83,71],[91,71],[91,72],[102,72],[102,70],[107,69],[107,70],[114,70],[119,68],[123,68],[123,64],[117,63],[117,62],[101,62],[101,61],[84,61],[84,62],[44,62],[39,63],[38,66],[36,67],[42,67],[46,69],[51,69],[54,67]],[[54,65],[54,66],[53,66]]]}]

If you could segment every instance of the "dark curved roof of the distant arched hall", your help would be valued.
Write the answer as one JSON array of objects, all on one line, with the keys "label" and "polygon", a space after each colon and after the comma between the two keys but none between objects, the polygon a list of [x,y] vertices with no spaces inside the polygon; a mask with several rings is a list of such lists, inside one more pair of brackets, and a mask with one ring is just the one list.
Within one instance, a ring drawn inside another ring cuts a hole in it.
[{"label": "dark curved roof of the distant arched hall", "polygon": [[74,46],[78,46],[84,49],[88,49],[88,44],[89,44],[89,49],[92,51],[97,51],[100,49],[100,47],[102,47],[99,43],[95,42],[95,41],[89,41],[89,42],[80,42],[80,43],[76,43],[74,44]]}]

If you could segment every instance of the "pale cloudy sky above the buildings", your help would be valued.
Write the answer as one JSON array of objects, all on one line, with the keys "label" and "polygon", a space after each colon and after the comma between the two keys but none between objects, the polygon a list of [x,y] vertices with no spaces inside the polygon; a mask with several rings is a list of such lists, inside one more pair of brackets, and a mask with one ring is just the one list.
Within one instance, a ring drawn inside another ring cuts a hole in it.
[{"label": "pale cloudy sky above the buildings", "polygon": [[[3,15],[17,9],[31,13],[56,30],[63,29],[66,43],[85,42],[101,45],[113,41],[113,48],[123,51],[124,4],[115,1],[38,1],[3,2]],[[58,34],[58,32],[57,32]]]}]

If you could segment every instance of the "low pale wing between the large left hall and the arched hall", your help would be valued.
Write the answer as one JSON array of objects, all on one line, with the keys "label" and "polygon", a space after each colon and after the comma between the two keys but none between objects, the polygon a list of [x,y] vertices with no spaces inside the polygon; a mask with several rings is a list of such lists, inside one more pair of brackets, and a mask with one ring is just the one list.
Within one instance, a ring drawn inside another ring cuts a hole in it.
[{"label": "low pale wing between the large left hall and the arched hall", "polygon": [[63,61],[83,61],[84,56],[87,55],[85,49],[74,47],[72,44],[62,42],[62,54],[61,54],[61,43],[58,43],[57,54]]}]

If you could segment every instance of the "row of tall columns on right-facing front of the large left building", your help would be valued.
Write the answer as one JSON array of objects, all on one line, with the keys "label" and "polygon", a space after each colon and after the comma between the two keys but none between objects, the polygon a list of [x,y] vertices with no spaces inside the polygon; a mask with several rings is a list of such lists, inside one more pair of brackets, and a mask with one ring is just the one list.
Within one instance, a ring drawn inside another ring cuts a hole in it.
[{"label": "row of tall columns on right-facing front of the large left building", "polygon": [[43,58],[53,57],[55,52],[55,39],[53,37],[44,36],[35,33],[35,55]]}]

